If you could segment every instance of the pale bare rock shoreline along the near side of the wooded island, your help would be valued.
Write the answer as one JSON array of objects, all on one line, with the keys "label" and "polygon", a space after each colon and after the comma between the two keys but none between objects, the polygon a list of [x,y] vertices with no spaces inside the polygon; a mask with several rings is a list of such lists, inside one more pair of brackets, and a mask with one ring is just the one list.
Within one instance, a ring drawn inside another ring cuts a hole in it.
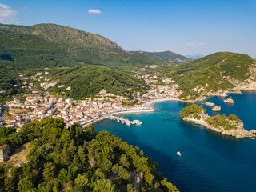
[{"label": "pale bare rock shoreline along the near side of the wooded island", "polygon": [[206,129],[209,130],[214,130],[218,133],[221,134],[226,134],[226,135],[230,135],[233,136],[235,138],[250,138],[250,139],[255,139],[256,137],[256,130],[244,130],[243,128],[238,128],[238,129],[232,129],[232,130],[225,130],[223,127],[214,127],[211,126],[210,124],[208,124],[207,122],[205,122],[203,119],[196,119],[196,118],[183,118],[184,121],[188,121],[188,122],[194,122],[196,124],[202,125],[202,126],[206,126]]}]

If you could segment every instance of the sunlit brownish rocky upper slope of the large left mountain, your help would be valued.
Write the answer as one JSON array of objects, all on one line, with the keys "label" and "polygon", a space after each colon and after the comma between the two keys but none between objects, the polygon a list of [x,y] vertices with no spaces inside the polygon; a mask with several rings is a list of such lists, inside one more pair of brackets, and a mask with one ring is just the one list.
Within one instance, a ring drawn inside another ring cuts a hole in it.
[{"label": "sunlit brownish rocky upper slope of the large left mountain", "polygon": [[[30,34],[54,42],[59,47],[68,46],[68,52],[75,56],[79,54],[94,55],[98,52],[126,52],[117,43],[98,34],[76,30],[69,26],[55,24],[39,24],[34,26],[0,25],[0,35]],[[105,53],[106,54],[106,53]]]}]

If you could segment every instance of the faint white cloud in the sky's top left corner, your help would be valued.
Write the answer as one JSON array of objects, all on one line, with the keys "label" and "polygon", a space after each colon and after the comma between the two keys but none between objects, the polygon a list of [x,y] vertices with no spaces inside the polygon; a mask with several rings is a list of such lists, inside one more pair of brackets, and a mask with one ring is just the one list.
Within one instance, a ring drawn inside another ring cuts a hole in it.
[{"label": "faint white cloud in the sky's top left corner", "polygon": [[5,4],[0,4],[0,22],[5,24],[10,24],[16,22],[16,15],[18,13],[12,10],[10,6]]}]

